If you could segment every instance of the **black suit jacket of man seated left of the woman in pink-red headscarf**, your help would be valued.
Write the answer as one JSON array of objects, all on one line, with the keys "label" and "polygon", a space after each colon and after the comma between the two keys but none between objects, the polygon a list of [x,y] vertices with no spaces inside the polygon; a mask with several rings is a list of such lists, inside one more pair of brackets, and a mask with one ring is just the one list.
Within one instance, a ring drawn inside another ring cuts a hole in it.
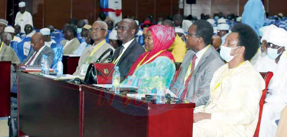
[{"label": "black suit jacket of man seated left of the woman in pink-red headscarf", "polygon": [[[120,47],[118,47],[114,53],[113,60],[117,59],[120,54]],[[136,39],[132,41],[126,51],[123,53],[122,57],[117,63],[120,71],[120,80],[123,81],[126,78],[126,75],[129,72],[132,64],[135,63],[135,60],[144,53],[144,48],[139,44]]]}]

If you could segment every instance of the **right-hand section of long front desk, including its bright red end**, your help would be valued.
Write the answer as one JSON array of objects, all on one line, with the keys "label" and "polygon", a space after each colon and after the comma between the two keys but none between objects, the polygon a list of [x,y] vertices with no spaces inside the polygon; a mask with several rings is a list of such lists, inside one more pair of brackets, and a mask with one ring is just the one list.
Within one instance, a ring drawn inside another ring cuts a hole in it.
[{"label": "right-hand section of long front desk, including its bright red end", "polygon": [[83,136],[192,137],[194,103],[155,105],[85,85],[82,91]]}]

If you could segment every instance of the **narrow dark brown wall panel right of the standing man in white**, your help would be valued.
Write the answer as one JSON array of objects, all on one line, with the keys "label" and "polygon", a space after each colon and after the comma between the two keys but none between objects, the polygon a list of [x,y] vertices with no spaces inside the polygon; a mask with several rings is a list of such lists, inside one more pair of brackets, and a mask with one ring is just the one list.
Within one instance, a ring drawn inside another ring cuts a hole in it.
[{"label": "narrow dark brown wall panel right of the standing man in white", "polygon": [[44,27],[44,1],[33,1],[33,24],[37,29]]}]

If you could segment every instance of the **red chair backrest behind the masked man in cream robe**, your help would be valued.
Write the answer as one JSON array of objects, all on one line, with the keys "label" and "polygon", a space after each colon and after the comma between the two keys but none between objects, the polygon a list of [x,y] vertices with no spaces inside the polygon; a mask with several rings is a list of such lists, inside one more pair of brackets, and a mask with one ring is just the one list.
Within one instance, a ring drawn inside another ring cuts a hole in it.
[{"label": "red chair backrest behind the masked man in cream robe", "polygon": [[259,102],[259,118],[258,118],[258,123],[257,123],[257,127],[254,133],[253,137],[258,137],[259,136],[259,129],[260,129],[260,122],[261,122],[261,115],[262,115],[262,109],[263,109],[263,105],[264,105],[264,100],[265,100],[265,96],[266,96],[266,92],[267,92],[267,88],[268,88],[268,84],[271,80],[271,78],[273,77],[273,72],[260,72],[261,76],[263,77],[263,79],[265,80],[265,89],[262,91],[262,96]]}]

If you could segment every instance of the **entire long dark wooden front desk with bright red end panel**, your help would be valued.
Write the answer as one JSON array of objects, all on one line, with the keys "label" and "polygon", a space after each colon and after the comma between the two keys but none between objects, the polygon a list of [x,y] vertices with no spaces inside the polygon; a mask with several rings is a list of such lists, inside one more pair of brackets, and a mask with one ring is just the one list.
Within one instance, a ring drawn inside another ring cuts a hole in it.
[{"label": "entire long dark wooden front desk with bright red end panel", "polygon": [[19,136],[191,137],[194,103],[156,105],[17,71]]}]

